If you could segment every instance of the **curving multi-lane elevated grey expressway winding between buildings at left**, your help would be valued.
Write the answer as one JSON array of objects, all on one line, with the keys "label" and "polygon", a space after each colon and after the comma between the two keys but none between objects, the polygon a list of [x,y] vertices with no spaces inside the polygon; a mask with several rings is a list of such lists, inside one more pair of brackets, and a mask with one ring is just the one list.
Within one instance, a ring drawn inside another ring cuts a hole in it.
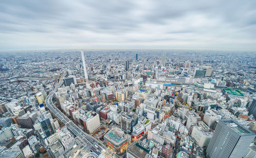
[{"label": "curving multi-lane elevated grey expressway winding between buildings at left", "polygon": [[[58,85],[53,89],[52,92],[49,93],[49,95],[46,97],[46,106],[48,109],[52,112],[52,114],[63,124],[67,126],[67,128],[76,136],[82,139],[82,141],[86,142],[91,150],[95,152],[97,155],[101,154],[102,151],[106,150],[107,148],[98,140],[84,132],[82,129],[80,129],[73,121],[71,121],[67,116],[65,116],[52,102],[52,98],[54,96],[54,93],[57,91],[57,89],[62,85],[63,78],[66,76],[66,73],[64,73],[58,83]],[[95,147],[96,146],[96,147]]]}]

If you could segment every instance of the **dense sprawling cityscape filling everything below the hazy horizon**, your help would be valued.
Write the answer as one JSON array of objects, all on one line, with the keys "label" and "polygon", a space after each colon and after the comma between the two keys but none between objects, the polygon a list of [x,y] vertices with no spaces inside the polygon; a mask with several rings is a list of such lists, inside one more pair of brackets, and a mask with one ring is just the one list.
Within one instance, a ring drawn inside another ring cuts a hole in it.
[{"label": "dense sprawling cityscape filling everything below the hazy horizon", "polygon": [[0,157],[256,157],[256,54],[0,53]]}]

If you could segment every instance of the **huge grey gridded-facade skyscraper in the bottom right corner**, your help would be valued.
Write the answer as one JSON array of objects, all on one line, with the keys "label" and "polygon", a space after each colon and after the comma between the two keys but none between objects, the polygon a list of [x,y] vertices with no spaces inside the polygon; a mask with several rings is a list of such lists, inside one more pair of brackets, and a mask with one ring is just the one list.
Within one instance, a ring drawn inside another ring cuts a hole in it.
[{"label": "huge grey gridded-facade skyscraper in the bottom right corner", "polygon": [[232,119],[220,120],[206,153],[211,158],[241,158],[255,134]]}]

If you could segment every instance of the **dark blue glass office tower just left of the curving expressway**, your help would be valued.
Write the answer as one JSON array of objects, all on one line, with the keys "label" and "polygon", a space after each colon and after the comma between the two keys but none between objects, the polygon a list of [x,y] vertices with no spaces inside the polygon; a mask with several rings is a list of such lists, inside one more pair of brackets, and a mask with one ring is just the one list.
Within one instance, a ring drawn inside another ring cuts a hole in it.
[{"label": "dark blue glass office tower just left of the curving expressway", "polygon": [[54,133],[54,130],[53,130],[51,121],[48,118],[48,116],[46,115],[46,113],[38,116],[37,119],[40,123],[42,132],[44,132],[44,134],[45,134],[45,138],[50,137]]}]

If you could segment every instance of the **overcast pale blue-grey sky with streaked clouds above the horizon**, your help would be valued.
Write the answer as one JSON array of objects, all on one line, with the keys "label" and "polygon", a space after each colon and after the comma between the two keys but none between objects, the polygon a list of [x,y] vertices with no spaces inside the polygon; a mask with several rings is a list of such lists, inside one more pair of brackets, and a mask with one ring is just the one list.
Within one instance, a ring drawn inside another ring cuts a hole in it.
[{"label": "overcast pale blue-grey sky with streaked clouds above the horizon", "polygon": [[256,51],[256,1],[3,0],[0,50]]}]

